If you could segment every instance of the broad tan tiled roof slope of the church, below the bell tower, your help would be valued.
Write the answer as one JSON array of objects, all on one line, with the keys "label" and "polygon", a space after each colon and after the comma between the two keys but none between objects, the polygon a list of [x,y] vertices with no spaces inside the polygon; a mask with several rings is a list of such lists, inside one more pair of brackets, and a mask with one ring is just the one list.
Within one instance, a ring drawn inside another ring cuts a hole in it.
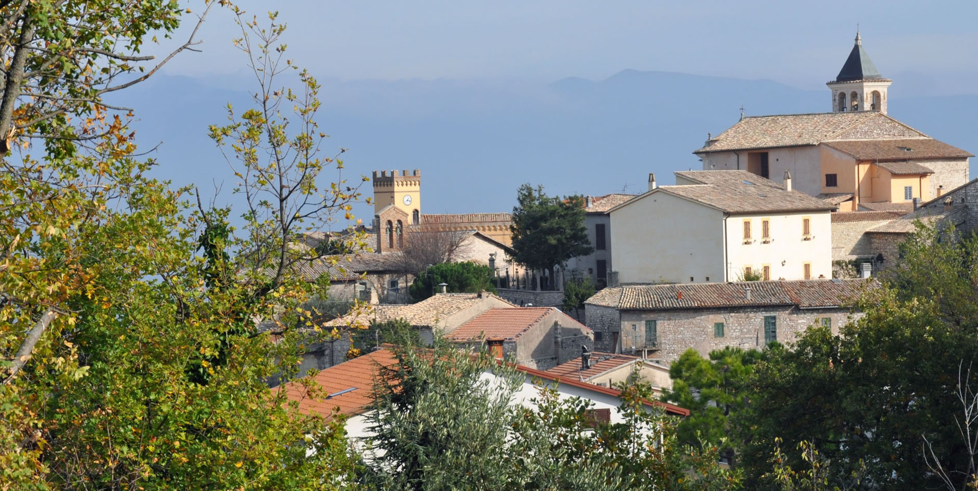
[{"label": "broad tan tiled roof slope of the church, below the bell tower", "polygon": [[872,111],[747,116],[693,153],[815,145],[879,116]]}]

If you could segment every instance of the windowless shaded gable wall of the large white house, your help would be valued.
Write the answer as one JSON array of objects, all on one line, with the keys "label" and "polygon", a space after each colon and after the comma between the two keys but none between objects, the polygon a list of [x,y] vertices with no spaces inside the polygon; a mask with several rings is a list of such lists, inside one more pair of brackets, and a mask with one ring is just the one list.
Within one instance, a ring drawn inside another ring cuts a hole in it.
[{"label": "windowless shaded gable wall of the large white house", "polygon": [[724,278],[720,210],[657,189],[613,210],[610,217],[611,262],[619,283]]}]

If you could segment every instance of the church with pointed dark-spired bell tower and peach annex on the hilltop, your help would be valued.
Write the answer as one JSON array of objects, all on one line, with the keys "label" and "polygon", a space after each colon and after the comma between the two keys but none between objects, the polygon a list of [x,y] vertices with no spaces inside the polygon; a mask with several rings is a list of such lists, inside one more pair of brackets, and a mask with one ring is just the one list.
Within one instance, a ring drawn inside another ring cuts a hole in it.
[{"label": "church with pointed dark-spired bell tower and peach annex on the hilltop", "polygon": [[826,84],[830,112],[741,117],[693,153],[703,170],[746,170],[768,179],[789,171],[795,189],[839,211],[928,201],[967,183],[973,154],[887,115],[891,83],[857,32],[849,58]]}]

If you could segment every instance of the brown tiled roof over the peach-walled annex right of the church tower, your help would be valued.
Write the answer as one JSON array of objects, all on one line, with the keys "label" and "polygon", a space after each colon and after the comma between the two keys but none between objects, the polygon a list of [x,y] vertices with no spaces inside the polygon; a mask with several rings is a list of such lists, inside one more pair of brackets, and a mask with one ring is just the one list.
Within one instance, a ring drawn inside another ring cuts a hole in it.
[{"label": "brown tiled roof over the peach-walled annex right of the church tower", "polygon": [[932,138],[844,140],[825,142],[825,145],[848,153],[857,160],[899,161],[974,156],[970,152]]}]

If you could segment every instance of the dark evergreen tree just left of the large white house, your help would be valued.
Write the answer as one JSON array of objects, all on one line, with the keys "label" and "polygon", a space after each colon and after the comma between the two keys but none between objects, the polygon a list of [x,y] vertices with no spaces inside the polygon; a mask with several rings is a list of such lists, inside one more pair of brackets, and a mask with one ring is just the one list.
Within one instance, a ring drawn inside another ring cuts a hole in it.
[{"label": "dark evergreen tree just left of the large white house", "polygon": [[542,185],[519,186],[510,225],[513,261],[546,270],[551,278],[550,288],[556,290],[555,266],[594,251],[584,216],[581,196],[561,200],[545,194]]}]

